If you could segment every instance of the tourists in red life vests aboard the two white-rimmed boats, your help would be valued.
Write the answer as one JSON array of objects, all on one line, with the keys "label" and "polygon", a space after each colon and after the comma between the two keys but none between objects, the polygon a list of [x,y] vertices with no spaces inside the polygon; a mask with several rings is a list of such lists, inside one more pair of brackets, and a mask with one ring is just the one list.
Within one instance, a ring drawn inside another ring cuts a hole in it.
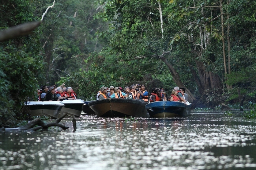
[{"label": "tourists in red life vests aboard the two white-rimmed boats", "polygon": [[65,83],[61,86],[41,86],[38,90],[38,101],[63,101],[77,99],[76,93],[72,87],[65,87]]}]

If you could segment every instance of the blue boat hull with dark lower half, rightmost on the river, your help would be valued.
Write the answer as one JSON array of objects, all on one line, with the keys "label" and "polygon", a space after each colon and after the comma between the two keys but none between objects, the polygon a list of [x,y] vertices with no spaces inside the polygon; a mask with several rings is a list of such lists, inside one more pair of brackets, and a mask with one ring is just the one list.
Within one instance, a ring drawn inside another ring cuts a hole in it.
[{"label": "blue boat hull with dark lower half, rightmost on the river", "polygon": [[177,101],[155,101],[148,103],[146,109],[150,117],[188,117],[191,113],[191,104]]}]

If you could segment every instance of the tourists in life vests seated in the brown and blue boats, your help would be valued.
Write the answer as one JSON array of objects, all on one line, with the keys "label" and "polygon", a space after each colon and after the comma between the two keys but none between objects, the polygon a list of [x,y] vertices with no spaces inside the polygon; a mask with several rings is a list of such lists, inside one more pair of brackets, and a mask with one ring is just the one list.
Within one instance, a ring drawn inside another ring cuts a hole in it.
[{"label": "tourists in life vests seated in the brown and blue boats", "polygon": [[97,92],[97,100],[102,100],[106,98],[127,98],[127,99],[142,99],[145,102],[154,102],[154,101],[178,101],[185,104],[190,104],[188,102],[188,94],[185,93],[185,88],[174,87],[172,94],[167,98],[165,90],[161,88],[153,88],[151,95],[148,99],[149,93],[145,90],[144,85],[136,84],[131,85],[130,87],[121,87],[110,86],[105,87],[100,86],[99,91]]}]

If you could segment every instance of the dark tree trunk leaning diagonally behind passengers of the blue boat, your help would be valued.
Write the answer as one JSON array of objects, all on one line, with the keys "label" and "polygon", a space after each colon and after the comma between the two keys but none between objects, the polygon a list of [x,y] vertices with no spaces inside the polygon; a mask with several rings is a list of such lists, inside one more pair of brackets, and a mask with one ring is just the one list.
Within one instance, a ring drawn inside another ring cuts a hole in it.
[{"label": "dark tree trunk leaning diagonally behind passengers of the blue boat", "polygon": [[184,87],[186,90],[186,93],[188,94],[188,100],[190,101],[190,103],[192,103],[193,101],[196,101],[196,98],[193,96],[193,94],[189,91],[189,89],[187,89],[184,84],[182,83],[182,81],[180,80],[180,75],[176,72],[176,70],[174,69],[174,67],[172,65],[170,65],[169,62],[167,62],[165,57],[160,57],[160,59],[168,66],[170,73],[173,76],[173,81],[177,84],[178,87]]}]

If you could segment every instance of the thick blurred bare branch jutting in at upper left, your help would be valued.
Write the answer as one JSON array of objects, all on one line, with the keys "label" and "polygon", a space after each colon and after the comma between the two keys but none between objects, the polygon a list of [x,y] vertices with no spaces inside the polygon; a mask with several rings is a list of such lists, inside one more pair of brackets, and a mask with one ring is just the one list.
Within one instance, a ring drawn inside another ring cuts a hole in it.
[{"label": "thick blurred bare branch jutting in at upper left", "polygon": [[0,42],[31,34],[32,31],[41,24],[40,21],[19,24],[18,26],[10,27],[6,30],[0,31]]}]

